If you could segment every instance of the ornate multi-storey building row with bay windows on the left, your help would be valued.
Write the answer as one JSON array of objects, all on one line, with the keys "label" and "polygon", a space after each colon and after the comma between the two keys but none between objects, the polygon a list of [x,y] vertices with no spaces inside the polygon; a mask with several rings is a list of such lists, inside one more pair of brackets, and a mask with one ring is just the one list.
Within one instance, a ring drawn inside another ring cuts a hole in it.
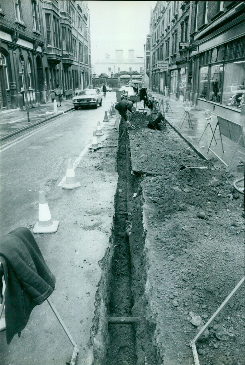
[{"label": "ornate multi-storey building row with bay windows on the left", "polygon": [[1,0],[0,16],[1,110],[50,102],[56,84],[68,98],[92,83],[87,1]]}]

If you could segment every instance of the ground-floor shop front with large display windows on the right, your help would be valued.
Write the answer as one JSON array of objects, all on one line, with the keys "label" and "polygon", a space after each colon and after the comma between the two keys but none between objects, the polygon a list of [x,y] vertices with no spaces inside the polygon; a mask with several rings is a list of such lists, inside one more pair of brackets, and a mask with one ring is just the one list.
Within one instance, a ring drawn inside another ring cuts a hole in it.
[{"label": "ground-floor shop front with large display windows on the right", "polygon": [[[213,43],[215,44],[215,43]],[[197,106],[244,125],[244,37],[198,55]]]}]

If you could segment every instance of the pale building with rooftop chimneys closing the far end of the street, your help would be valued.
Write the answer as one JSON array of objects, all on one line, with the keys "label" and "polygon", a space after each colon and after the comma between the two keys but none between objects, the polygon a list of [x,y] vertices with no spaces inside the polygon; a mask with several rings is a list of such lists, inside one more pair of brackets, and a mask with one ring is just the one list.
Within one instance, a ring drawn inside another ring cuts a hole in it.
[{"label": "pale building with rooftop chimneys closing the far end of the street", "polygon": [[144,73],[144,57],[135,57],[134,49],[129,49],[129,57],[123,58],[123,50],[117,49],[116,58],[110,58],[110,55],[106,53],[104,59],[94,63],[92,70],[97,76],[105,73],[109,77],[111,73],[115,74],[121,71]]}]

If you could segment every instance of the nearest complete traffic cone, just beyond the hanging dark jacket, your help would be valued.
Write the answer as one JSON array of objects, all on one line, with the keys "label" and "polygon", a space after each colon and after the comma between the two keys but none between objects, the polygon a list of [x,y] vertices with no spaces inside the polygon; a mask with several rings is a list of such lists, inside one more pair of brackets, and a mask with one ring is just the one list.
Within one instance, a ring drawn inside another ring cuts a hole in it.
[{"label": "nearest complete traffic cone, just beyond the hanging dark jacket", "polygon": [[33,233],[54,233],[58,230],[59,221],[52,220],[44,191],[39,191],[38,222],[33,228]]}]

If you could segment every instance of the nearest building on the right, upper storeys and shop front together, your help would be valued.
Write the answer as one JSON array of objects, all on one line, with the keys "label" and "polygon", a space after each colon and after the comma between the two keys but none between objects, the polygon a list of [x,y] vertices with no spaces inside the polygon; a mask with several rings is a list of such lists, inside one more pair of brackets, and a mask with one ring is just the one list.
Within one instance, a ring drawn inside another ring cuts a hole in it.
[{"label": "nearest building on the right, upper storeys and shop front together", "polygon": [[190,99],[244,125],[245,3],[193,1],[191,5]]}]

